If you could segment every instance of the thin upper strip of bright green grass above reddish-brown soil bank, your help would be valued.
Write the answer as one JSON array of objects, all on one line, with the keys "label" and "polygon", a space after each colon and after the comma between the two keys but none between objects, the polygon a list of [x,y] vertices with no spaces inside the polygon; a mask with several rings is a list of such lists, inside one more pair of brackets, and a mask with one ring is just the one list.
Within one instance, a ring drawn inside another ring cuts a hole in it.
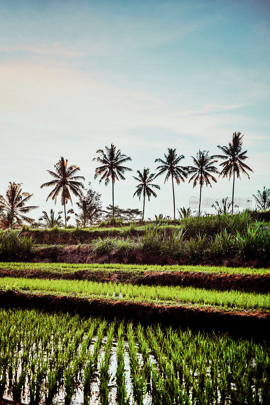
[{"label": "thin upper strip of bright green grass above reddish-brown soil bank", "polygon": [[0,262],[0,270],[37,270],[52,273],[70,273],[79,270],[89,271],[125,271],[138,272],[144,271],[186,271],[186,272],[207,272],[207,273],[225,273],[225,274],[270,274],[269,268],[251,268],[251,267],[220,267],[220,266],[185,266],[185,265],[136,265],[136,264],[77,264],[77,263],[26,263],[26,262]]}]

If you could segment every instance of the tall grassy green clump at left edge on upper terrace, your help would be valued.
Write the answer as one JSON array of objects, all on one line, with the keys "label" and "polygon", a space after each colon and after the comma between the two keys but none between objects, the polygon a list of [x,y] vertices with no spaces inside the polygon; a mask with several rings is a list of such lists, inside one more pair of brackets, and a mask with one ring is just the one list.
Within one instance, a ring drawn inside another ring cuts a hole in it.
[{"label": "tall grassy green clump at left edge on upper terrace", "polygon": [[0,258],[4,262],[28,260],[33,253],[35,240],[32,236],[20,236],[13,229],[0,233]]}]

